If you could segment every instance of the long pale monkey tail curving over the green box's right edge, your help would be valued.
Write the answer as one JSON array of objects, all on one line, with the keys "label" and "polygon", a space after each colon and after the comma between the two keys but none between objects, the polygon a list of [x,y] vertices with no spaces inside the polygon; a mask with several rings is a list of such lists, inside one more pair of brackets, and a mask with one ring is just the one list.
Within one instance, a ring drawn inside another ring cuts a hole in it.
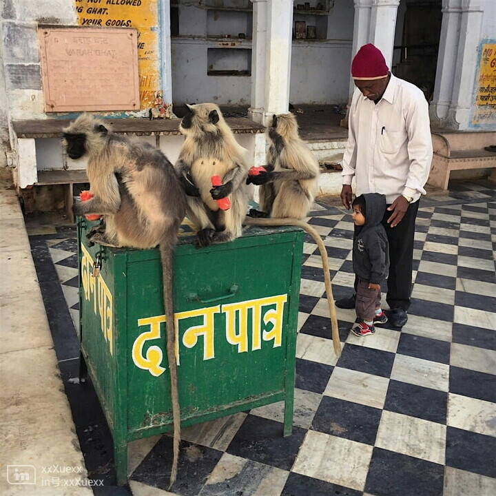
[{"label": "long pale monkey tail curving over the green box's right edge", "polygon": [[341,342],[339,337],[338,316],[334,305],[334,298],[331,286],[331,276],[329,275],[329,259],[327,258],[327,250],[320,238],[320,234],[310,227],[306,222],[297,218],[253,218],[246,217],[243,221],[245,225],[261,225],[261,226],[278,226],[278,225],[294,225],[301,227],[304,231],[315,240],[320,251],[320,258],[322,259],[322,270],[324,271],[324,285],[327,295],[327,305],[329,307],[329,315],[331,316],[331,333],[333,340],[334,353],[337,357],[341,355]]}]

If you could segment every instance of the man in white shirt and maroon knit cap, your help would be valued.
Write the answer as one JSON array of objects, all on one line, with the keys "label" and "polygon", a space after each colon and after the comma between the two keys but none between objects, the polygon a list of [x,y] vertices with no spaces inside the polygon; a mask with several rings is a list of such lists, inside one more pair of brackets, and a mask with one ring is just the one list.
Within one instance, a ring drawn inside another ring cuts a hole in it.
[{"label": "man in white shirt and maroon knit cap", "polygon": [[[351,207],[353,176],[356,196],[386,195],[382,224],[391,260],[386,302],[391,324],[402,327],[410,306],[415,218],[433,155],[428,103],[418,87],[389,72],[384,56],[371,43],[353,58],[351,76],[356,90],[342,159],[341,200]],[[355,295],[336,305],[353,308]]]}]

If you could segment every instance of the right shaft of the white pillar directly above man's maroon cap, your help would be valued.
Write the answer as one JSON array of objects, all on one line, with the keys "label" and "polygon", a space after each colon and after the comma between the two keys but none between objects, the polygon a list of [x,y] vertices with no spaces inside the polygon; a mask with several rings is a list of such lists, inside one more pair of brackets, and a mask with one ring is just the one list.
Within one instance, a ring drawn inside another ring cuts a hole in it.
[{"label": "right shaft of the white pillar directly above man's maroon cap", "polygon": [[399,5],[400,0],[372,0],[367,43],[373,43],[382,52],[390,69],[393,62],[396,15]]}]

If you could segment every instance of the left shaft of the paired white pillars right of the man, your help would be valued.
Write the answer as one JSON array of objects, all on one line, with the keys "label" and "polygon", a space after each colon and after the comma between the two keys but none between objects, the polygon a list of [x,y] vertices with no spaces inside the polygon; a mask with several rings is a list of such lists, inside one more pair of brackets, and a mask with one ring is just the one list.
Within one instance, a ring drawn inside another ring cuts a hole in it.
[{"label": "left shaft of the paired white pillars right of the man", "polygon": [[429,105],[431,123],[440,127],[448,115],[448,107],[453,94],[461,17],[462,0],[443,0],[434,95]]}]

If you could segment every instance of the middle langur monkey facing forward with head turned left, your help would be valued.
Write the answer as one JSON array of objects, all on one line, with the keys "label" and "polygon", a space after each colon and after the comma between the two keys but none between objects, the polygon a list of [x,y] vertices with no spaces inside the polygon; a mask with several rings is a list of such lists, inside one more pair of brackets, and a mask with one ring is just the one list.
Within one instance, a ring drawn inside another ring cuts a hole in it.
[{"label": "middle langur monkey facing forward with head turned left", "polygon": [[[187,216],[197,234],[196,246],[207,247],[238,238],[248,208],[246,150],[238,145],[218,105],[187,105],[179,130],[185,136],[176,171],[187,194]],[[212,187],[211,176],[222,185]],[[223,210],[216,200],[228,197]]]}]

